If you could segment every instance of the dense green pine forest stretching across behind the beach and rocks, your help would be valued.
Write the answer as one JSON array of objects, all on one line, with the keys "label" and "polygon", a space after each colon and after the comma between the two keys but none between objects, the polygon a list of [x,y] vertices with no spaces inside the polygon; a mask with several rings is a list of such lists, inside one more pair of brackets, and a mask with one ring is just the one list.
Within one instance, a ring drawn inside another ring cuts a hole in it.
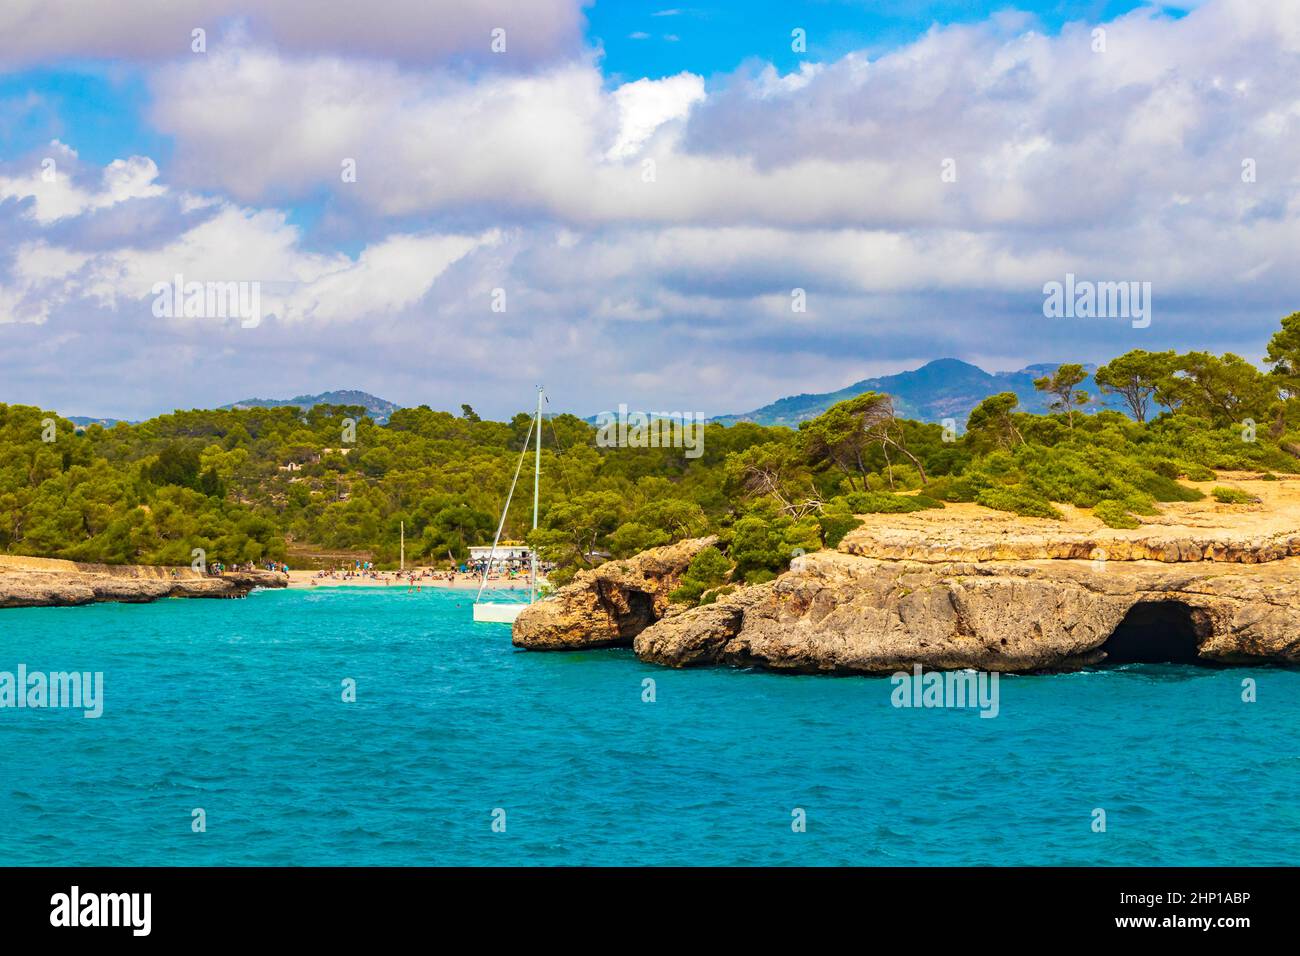
[{"label": "dense green pine forest stretching across behind the beach and rocks", "polygon": [[[1039,380],[1053,412],[1011,393],[976,407],[958,434],[897,418],[867,393],[798,429],[705,427],[703,454],[599,447],[572,416],[542,428],[542,527],[516,496],[506,537],[556,562],[555,579],[606,557],[720,536],[684,598],[723,580],[759,581],[792,555],[833,546],[854,514],[974,501],[1028,516],[1057,505],[1135,527],[1156,502],[1202,492],[1214,468],[1300,471],[1300,312],[1269,343],[1268,371],[1232,355],[1130,351],[1096,371],[1106,407],[1075,386],[1080,365]],[[107,563],[328,563],[395,567],[462,561],[490,544],[532,419],[485,421],[425,406],[376,425],[359,407],[177,411],[77,428],[0,405],[0,550]],[[1236,501],[1222,492],[1223,501]]]}]

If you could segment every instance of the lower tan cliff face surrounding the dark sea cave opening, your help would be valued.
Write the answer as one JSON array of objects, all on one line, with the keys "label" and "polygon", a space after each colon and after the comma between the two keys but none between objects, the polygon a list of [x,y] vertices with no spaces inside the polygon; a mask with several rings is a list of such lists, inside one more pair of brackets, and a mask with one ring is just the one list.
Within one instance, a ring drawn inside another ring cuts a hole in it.
[{"label": "lower tan cliff face surrounding the dark sea cave opening", "polygon": [[1070,670],[1105,659],[1138,605],[1188,609],[1205,662],[1300,662],[1300,559],[1158,562],[878,561],[818,553],[776,581],[642,631],[644,661],[887,674],[914,663]]}]

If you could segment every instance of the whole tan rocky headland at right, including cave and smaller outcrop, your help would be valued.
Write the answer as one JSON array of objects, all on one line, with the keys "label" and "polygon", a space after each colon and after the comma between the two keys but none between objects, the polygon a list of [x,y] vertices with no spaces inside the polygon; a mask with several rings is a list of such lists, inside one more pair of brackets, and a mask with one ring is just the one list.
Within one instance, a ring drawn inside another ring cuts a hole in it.
[{"label": "whole tan rocky headland at right, including cave and smaller outcrop", "polygon": [[1132,531],[1072,509],[867,515],[838,550],[692,609],[667,593],[710,540],[684,541],[580,576],[521,614],[514,643],[818,674],[1300,663],[1300,483],[1236,484],[1260,505],[1169,505]]}]

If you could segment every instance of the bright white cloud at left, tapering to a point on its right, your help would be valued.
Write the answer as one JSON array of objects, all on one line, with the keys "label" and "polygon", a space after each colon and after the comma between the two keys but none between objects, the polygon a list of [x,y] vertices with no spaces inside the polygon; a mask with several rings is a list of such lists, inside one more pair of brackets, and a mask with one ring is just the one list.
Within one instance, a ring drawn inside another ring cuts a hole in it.
[{"label": "bright white cloud at left, tapering to a point on its right", "polygon": [[[153,174],[146,174],[147,169]],[[91,219],[105,206],[164,195],[166,190],[153,182],[155,174],[148,160],[114,160],[103,170],[101,193],[79,193],[77,202],[58,194],[52,204],[48,194],[40,194],[44,204],[38,203],[38,215],[27,217],[34,228],[21,233],[39,238],[20,242],[8,269],[0,273],[0,323],[40,324],[52,310],[79,304],[131,315],[156,333],[153,290],[176,277],[185,282],[256,282],[264,290],[264,313],[283,323],[364,323],[411,307],[452,263],[499,239],[495,233],[394,233],[352,259],[307,250],[300,230],[280,211],[192,195],[170,199],[178,209],[203,215],[173,220],[174,234],[166,241],[140,243],[118,237],[116,243],[87,250],[47,238],[52,237],[46,228],[51,222]]]}]

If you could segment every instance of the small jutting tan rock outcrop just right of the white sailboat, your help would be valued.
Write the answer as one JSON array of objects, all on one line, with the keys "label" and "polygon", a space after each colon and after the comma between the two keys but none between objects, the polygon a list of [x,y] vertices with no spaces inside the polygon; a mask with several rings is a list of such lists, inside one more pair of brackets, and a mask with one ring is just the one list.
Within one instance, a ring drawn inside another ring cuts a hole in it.
[{"label": "small jutting tan rock outcrop just right of the white sailboat", "polygon": [[716,541],[677,541],[580,571],[571,584],[516,618],[512,641],[533,650],[630,646],[641,631],[664,617],[668,594],[692,558]]}]

